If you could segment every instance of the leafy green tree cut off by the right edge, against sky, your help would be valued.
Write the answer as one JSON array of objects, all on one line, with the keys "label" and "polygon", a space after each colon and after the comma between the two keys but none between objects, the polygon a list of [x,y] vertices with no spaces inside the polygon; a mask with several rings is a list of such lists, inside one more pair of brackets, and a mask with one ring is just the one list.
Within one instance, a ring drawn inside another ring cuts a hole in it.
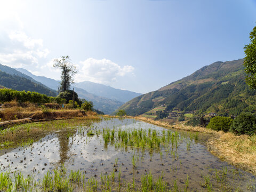
[{"label": "leafy green tree cut off by the right edge, against sky", "polygon": [[250,33],[250,40],[251,43],[244,46],[244,71],[247,73],[245,80],[251,89],[256,89],[256,26]]}]

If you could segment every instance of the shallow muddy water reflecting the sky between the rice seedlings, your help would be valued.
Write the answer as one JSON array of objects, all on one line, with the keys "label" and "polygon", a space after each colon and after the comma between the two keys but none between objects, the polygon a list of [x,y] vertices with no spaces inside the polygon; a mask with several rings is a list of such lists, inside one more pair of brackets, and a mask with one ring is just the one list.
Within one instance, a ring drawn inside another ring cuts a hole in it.
[{"label": "shallow muddy water reflecting the sky between the rice seedlings", "polygon": [[[117,142],[108,142],[106,145],[102,132],[107,128],[110,131],[150,129],[156,130],[158,135],[166,130],[134,119],[102,119],[90,127],[50,132],[39,142],[27,147],[6,153],[0,151],[0,171],[21,171],[23,174],[35,175],[35,179],[42,179],[47,171],[63,164],[68,172],[80,170],[86,173],[85,179],[95,177],[100,180],[101,173],[111,174],[116,169],[117,172],[121,170],[121,178],[125,182],[131,182],[134,178],[139,183],[141,175],[151,172],[154,179],[163,177],[170,188],[177,182],[182,190],[189,177],[189,191],[207,191],[207,178],[210,178],[212,191],[250,191],[252,188],[255,179],[252,174],[220,161],[207,151],[204,140],[209,135],[199,134],[198,140],[195,140],[191,135],[189,137],[188,132],[179,131],[177,148],[161,145],[157,149],[142,150],[135,146],[121,146]],[[92,137],[87,136],[88,130],[94,133]],[[135,167],[132,164],[133,155]]]}]

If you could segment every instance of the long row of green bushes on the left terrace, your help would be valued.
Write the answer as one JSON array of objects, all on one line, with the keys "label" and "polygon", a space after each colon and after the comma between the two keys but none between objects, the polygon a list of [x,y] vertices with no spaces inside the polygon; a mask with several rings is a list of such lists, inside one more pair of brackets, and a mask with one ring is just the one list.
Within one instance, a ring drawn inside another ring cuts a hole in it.
[{"label": "long row of green bushes on the left terrace", "polygon": [[30,92],[30,91],[16,91],[11,89],[0,90],[0,102],[10,102],[17,100],[18,102],[33,102],[33,103],[63,103],[61,98],[47,97],[45,94]]}]

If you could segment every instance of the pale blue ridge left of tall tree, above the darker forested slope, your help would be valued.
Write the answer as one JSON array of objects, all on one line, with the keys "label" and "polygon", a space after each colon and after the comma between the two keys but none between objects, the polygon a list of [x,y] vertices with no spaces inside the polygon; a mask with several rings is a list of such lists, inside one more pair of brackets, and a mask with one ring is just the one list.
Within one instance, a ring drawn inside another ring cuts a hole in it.
[{"label": "pale blue ridge left of tall tree, above the darker forested slope", "polygon": [[35,79],[38,82],[43,83],[47,87],[50,87],[53,90],[58,90],[58,87],[60,86],[60,81],[56,81],[55,79],[52,78],[47,78],[44,76],[36,76],[32,73],[30,73],[28,70],[23,69],[23,68],[17,68],[16,70],[20,71],[22,74],[25,74],[33,79]]}]

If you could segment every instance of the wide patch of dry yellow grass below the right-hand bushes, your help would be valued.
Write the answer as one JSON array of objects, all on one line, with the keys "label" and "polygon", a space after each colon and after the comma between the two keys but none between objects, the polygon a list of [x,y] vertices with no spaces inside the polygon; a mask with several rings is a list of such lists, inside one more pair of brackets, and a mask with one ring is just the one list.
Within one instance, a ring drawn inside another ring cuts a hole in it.
[{"label": "wide patch of dry yellow grass below the right-hand bushes", "polygon": [[207,142],[212,154],[243,170],[256,174],[256,135],[223,133]]}]

